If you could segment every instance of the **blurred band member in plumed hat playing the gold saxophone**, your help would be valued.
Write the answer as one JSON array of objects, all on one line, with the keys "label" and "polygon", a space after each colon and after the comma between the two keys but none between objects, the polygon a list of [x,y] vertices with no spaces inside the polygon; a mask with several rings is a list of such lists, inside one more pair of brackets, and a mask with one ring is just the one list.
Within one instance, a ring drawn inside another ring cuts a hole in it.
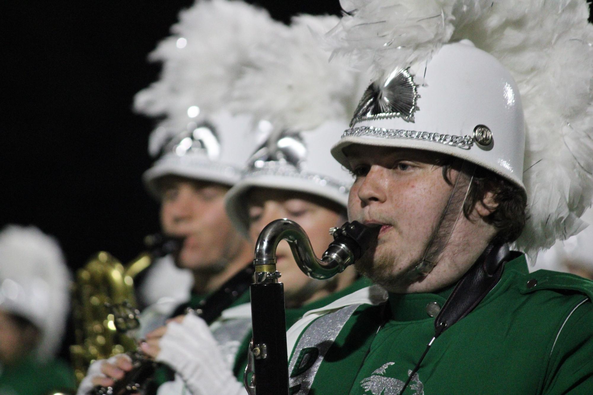
[{"label": "blurred band member in plumed hat playing the gold saxophone", "polygon": [[[224,195],[240,179],[257,136],[251,117],[231,114],[227,102],[251,47],[285,28],[244,2],[199,1],[180,13],[173,36],[151,54],[162,62],[161,79],[136,95],[135,108],[162,119],[149,139],[156,160],[144,181],[161,202],[163,233],[183,238],[180,251],[169,259],[191,272],[193,285],[186,303],[164,299],[143,311],[143,333],[187,308],[212,322],[227,307],[249,300],[253,248],[228,219]],[[181,284],[156,281],[181,288],[183,295],[186,280],[175,278]],[[131,368],[126,357],[95,362],[78,394],[111,386]],[[160,387],[168,391],[177,385],[173,380],[173,371],[158,369],[148,393]]]}]

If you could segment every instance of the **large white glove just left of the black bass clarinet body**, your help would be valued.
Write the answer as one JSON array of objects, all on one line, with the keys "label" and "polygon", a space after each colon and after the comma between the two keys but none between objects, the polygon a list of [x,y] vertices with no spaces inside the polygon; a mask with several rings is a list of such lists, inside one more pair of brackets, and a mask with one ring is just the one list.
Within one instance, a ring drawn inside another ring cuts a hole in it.
[{"label": "large white glove just left of the black bass clarinet body", "polygon": [[187,314],[183,323],[170,322],[159,343],[157,361],[185,381],[192,395],[244,395],[247,391],[227,366],[208,325]]}]

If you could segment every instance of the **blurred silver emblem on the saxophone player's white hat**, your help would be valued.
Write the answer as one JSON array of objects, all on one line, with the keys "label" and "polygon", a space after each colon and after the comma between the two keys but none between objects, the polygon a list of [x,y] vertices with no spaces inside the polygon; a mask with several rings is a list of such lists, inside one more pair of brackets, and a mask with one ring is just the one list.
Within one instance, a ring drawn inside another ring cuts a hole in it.
[{"label": "blurred silver emblem on the saxophone player's white hat", "polygon": [[221,153],[221,141],[216,128],[208,121],[190,122],[186,130],[177,134],[164,144],[161,156],[173,152],[177,156],[197,153],[210,160],[216,160]]}]

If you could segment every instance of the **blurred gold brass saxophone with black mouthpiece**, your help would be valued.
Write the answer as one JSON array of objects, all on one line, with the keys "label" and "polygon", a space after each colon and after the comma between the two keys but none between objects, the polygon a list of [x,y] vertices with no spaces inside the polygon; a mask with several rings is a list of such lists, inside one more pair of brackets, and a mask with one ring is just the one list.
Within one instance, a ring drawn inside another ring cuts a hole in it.
[{"label": "blurred gold brass saxophone with black mouthpiece", "polygon": [[70,346],[70,354],[78,383],[93,361],[137,349],[128,331],[138,326],[134,278],[155,258],[176,251],[178,240],[151,235],[145,238],[145,245],[148,250],[126,266],[101,251],[76,272],[72,287],[76,343]]}]

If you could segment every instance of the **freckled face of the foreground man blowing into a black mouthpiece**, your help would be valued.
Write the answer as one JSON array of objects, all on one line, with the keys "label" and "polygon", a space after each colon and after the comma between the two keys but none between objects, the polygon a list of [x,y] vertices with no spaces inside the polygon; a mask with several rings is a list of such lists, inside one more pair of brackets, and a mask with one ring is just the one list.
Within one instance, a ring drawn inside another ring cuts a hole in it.
[{"label": "freckled face of the foreground man blowing into a black mouthpiece", "polygon": [[374,255],[356,266],[388,289],[406,289],[409,272],[422,259],[451,197],[452,186],[436,164],[441,156],[369,146],[350,146],[345,153],[356,176],[348,202],[350,220],[382,224]]}]

